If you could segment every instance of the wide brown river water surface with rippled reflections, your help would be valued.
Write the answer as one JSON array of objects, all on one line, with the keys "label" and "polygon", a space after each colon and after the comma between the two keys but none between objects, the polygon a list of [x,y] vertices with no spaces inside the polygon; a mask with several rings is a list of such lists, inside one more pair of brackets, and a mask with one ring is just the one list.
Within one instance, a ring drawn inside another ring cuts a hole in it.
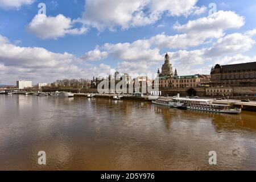
[{"label": "wide brown river water surface with rippled reflections", "polygon": [[[255,113],[99,98],[0,96],[0,104],[0,169],[256,169]],[[42,150],[46,166],[37,164]]]}]

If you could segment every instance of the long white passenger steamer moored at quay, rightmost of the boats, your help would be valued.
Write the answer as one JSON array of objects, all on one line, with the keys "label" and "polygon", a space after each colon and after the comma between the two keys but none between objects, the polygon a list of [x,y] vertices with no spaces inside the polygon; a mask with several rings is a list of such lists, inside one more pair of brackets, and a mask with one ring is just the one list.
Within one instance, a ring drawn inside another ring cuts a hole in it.
[{"label": "long white passenger steamer moored at quay, rightmost of the boats", "polygon": [[191,98],[173,98],[174,102],[183,103],[187,109],[203,110],[216,113],[239,114],[241,108],[236,108],[229,104],[213,104],[212,100],[191,99]]}]

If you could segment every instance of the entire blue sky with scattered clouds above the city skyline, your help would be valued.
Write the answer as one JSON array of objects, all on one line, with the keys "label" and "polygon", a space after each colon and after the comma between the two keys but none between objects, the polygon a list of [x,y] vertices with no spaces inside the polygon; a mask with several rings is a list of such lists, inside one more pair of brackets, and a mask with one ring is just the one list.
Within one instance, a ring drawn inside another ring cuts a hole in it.
[{"label": "entire blue sky with scattered clouds above the city skyline", "polygon": [[256,2],[0,0],[0,84],[256,61]]}]

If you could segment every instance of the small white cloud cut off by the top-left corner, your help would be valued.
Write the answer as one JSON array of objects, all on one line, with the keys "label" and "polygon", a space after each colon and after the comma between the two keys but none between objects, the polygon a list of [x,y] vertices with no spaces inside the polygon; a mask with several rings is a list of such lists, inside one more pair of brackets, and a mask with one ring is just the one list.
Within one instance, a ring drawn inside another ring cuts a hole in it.
[{"label": "small white cloud cut off by the top-left corner", "polygon": [[19,9],[22,5],[31,5],[35,0],[0,0],[2,9]]}]

